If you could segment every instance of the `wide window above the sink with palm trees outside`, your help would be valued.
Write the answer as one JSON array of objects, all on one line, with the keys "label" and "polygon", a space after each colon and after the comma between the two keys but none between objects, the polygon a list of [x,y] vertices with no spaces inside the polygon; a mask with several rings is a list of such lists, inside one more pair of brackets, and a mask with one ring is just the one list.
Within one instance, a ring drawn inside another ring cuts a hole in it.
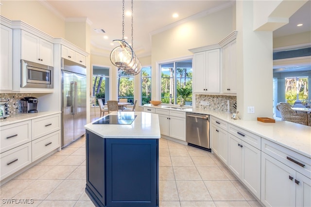
[{"label": "wide window above the sink with palm trees outside", "polygon": [[162,103],[192,105],[192,60],[160,64]]}]

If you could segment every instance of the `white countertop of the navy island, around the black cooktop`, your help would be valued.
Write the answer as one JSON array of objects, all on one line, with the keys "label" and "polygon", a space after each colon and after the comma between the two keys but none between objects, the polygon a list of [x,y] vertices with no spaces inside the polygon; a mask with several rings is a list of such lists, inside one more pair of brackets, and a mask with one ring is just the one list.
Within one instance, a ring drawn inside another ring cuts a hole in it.
[{"label": "white countertop of the navy island, around the black cooktop", "polygon": [[131,125],[93,124],[97,121],[95,120],[87,124],[85,128],[103,138],[160,139],[161,135],[157,114],[136,111],[115,111],[109,113],[109,115],[118,115],[118,113],[134,113],[137,117]]}]

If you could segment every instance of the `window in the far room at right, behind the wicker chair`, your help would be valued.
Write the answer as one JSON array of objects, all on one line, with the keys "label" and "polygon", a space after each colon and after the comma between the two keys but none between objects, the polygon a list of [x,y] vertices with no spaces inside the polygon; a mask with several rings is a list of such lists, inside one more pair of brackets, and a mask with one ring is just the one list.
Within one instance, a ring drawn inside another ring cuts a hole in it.
[{"label": "window in the far room at right, behind the wicker chair", "polygon": [[296,101],[308,103],[308,77],[285,78],[285,99],[291,105]]}]

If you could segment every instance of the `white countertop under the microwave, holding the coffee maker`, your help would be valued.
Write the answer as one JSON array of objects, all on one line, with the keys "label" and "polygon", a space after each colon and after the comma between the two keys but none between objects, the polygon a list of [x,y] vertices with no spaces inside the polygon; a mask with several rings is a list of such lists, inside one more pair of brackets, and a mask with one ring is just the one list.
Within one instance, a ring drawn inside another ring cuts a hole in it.
[{"label": "white countertop under the microwave, holding the coffee maker", "polygon": [[17,113],[10,115],[9,117],[0,119],[0,127],[15,124],[17,122],[27,121],[35,118],[40,118],[44,116],[49,116],[53,114],[61,113],[61,111],[42,111],[37,113]]}]

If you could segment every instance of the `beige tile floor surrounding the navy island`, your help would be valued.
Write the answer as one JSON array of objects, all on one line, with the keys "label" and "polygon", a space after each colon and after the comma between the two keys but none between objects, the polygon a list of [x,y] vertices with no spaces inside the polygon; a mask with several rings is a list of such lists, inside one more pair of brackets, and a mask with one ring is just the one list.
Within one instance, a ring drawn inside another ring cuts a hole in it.
[{"label": "beige tile floor surrounding the navy island", "polygon": [[[93,207],[85,193],[85,137],[0,187],[1,207]],[[213,154],[160,139],[160,207],[259,207]],[[7,204],[2,199],[34,199]]]}]

